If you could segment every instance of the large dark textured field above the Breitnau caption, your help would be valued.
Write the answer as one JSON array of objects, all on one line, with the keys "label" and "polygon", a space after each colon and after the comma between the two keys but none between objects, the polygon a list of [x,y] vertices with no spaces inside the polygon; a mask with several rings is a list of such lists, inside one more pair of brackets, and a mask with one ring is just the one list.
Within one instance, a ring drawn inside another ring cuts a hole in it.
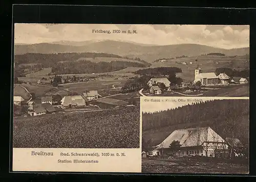
[{"label": "large dark textured field above the Breitnau caption", "polygon": [[139,148],[139,107],[14,118],[15,148]]}]

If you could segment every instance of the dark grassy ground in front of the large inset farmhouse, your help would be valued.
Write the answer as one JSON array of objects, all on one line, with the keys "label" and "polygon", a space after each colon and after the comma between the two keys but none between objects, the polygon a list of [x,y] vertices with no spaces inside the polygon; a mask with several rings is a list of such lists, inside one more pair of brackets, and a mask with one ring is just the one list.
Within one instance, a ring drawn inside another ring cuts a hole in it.
[{"label": "dark grassy ground in front of the large inset farmhouse", "polygon": [[248,174],[248,161],[236,163],[229,161],[183,161],[142,158],[142,172],[145,173],[220,173]]}]

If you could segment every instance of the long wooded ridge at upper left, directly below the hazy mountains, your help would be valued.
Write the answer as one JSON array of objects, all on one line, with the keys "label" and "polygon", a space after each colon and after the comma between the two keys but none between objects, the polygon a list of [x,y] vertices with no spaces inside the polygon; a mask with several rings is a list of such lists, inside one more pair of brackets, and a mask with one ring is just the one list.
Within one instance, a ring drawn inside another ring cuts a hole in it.
[{"label": "long wooded ridge at upper left, directly below the hazy mountains", "polygon": [[[23,55],[14,55],[15,64],[24,63],[41,63],[42,67],[52,67],[60,61],[76,61],[79,58],[96,58],[96,57],[108,57],[108,58],[127,58],[121,57],[116,54],[106,53],[58,53],[58,54],[39,54],[39,53],[27,53]],[[132,59],[132,58],[129,58]],[[140,61],[142,64],[150,65],[144,60],[134,58],[133,60]]]}]

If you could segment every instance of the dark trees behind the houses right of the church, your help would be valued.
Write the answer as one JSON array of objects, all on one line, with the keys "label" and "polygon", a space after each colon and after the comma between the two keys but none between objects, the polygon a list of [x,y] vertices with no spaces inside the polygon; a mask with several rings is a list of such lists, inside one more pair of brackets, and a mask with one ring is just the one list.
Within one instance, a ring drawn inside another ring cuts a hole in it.
[{"label": "dark trees behind the houses right of the church", "polygon": [[216,75],[219,75],[220,73],[225,73],[230,77],[249,77],[249,70],[235,70],[230,69],[228,67],[218,67],[215,70]]}]

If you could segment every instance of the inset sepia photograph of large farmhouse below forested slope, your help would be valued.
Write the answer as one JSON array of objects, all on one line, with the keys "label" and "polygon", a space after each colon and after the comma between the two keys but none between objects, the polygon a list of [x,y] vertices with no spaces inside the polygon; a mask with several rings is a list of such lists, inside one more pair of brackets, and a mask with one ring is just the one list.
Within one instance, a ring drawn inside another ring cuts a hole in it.
[{"label": "inset sepia photograph of large farmhouse below forested slope", "polygon": [[141,98],[142,172],[249,173],[249,98],[151,98]]}]

